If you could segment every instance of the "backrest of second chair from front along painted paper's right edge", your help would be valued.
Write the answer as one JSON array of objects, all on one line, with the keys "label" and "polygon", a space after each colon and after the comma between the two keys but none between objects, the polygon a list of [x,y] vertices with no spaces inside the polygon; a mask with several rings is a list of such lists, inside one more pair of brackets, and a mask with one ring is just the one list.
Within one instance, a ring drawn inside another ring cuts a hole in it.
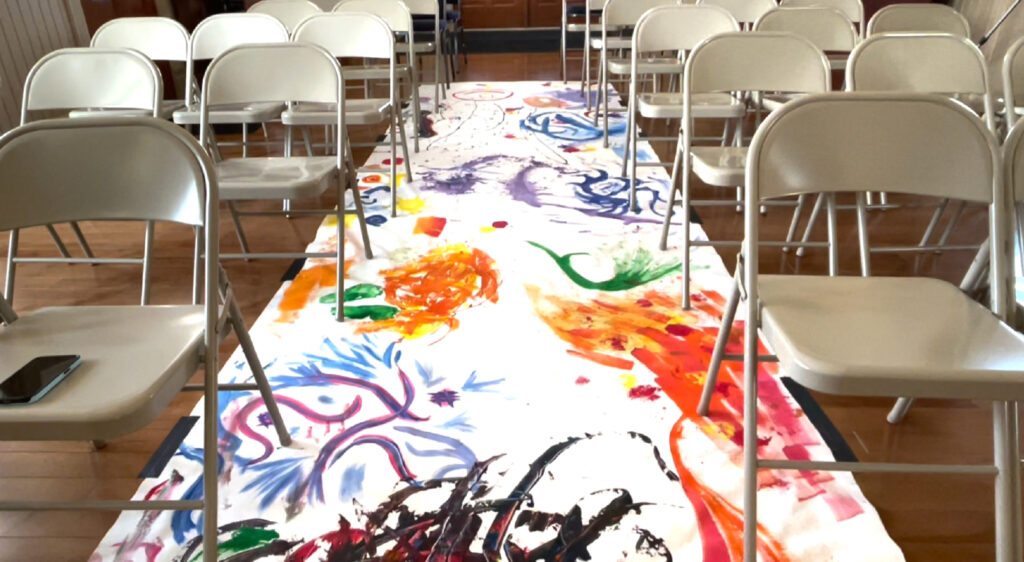
[{"label": "backrest of second chair from front along painted paper's right edge", "polygon": [[683,82],[684,92],[826,92],[831,88],[831,71],[821,49],[807,38],[730,32],[693,49]]}]

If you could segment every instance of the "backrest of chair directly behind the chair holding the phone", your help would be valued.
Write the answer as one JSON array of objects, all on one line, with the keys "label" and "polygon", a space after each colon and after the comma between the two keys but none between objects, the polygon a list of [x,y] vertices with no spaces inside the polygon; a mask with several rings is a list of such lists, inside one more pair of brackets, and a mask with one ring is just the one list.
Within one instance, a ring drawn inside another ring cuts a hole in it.
[{"label": "backrest of chair directly behind the chair holding the phone", "polygon": [[58,49],[29,71],[22,124],[31,111],[75,109],[160,111],[163,81],[153,60],[132,49]]}]

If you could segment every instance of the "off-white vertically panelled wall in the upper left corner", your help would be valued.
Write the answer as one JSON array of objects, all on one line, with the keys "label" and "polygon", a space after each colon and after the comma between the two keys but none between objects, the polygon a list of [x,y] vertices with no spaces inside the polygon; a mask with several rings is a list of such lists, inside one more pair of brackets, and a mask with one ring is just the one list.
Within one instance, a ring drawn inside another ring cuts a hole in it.
[{"label": "off-white vertically panelled wall in the upper left corner", "polygon": [[88,44],[81,0],[0,0],[0,132],[17,125],[25,77],[40,57]]}]

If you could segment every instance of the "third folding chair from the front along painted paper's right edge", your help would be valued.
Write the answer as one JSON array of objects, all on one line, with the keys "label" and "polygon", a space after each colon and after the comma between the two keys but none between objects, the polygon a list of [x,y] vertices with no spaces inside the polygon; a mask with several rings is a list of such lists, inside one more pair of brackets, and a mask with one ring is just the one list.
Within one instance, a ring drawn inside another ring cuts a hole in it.
[{"label": "third folding chair from the front along painted paper's right edge", "polygon": [[[637,158],[639,127],[637,114],[647,119],[679,119],[683,112],[683,94],[675,92],[640,93],[639,75],[650,70],[663,71],[664,64],[648,67],[644,53],[651,51],[676,51],[676,70],[682,74],[686,53],[710,37],[720,33],[737,32],[739,24],[725,9],[718,6],[694,6],[673,4],[657,6],[644,12],[633,30],[633,46],[630,62],[630,94],[628,122],[626,128],[626,150],[623,153],[622,175],[630,176],[631,209],[636,209],[636,184],[638,166],[665,166],[662,162],[640,163]],[[745,113],[745,105],[730,93],[694,94],[694,118],[725,119],[721,140],[726,142],[729,134],[728,120],[739,119]],[[676,136],[647,136],[647,140],[676,140]],[[629,171],[627,172],[627,166]]]}]

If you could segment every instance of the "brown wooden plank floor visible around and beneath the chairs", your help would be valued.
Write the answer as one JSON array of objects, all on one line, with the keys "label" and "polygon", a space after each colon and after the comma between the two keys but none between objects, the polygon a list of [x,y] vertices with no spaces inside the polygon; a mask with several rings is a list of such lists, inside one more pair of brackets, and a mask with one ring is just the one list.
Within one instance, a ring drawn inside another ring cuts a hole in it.
[{"label": "brown wooden plank floor visible around and beneath the chairs", "polygon": [[[556,53],[471,55],[460,76],[462,81],[556,80]],[[643,124],[649,130],[650,124]],[[654,129],[665,134],[662,124]],[[372,137],[376,131],[353,135]],[[673,146],[655,146],[663,160],[671,160]],[[366,153],[357,158],[365,158]],[[699,186],[698,198],[728,199],[732,190]],[[325,204],[333,204],[325,201]],[[712,240],[738,236],[740,215],[732,207],[699,210]],[[876,212],[870,217],[872,242],[909,243],[924,230],[927,209]],[[787,211],[773,210],[765,221],[767,232],[784,231]],[[284,220],[251,219],[247,233],[254,248],[287,251],[304,247],[316,229],[314,218]],[[230,221],[222,217],[222,247],[237,248]],[[97,255],[137,256],[142,229],[137,224],[87,223],[86,235]],[[957,229],[963,240],[984,235],[984,217],[969,212]],[[852,214],[840,215],[844,240],[842,271],[858,271]],[[37,229],[38,230],[38,229]],[[66,240],[70,232],[61,230]],[[823,240],[823,232],[818,232]],[[676,245],[678,247],[678,245]],[[23,234],[25,254],[52,255],[44,232]],[[77,250],[72,248],[73,252]],[[6,255],[6,239],[0,243]],[[186,302],[190,283],[190,230],[161,225],[157,230],[153,302]],[[731,269],[735,251],[723,250]],[[762,253],[766,271],[821,272],[824,256],[812,251],[796,260],[777,250]],[[969,256],[888,256],[873,262],[876,274],[930,274],[957,280]],[[246,319],[251,325],[281,285],[289,263],[284,260],[228,262],[226,269]],[[18,267],[15,308],[27,311],[51,304],[129,304],[139,297],[139,268],[103,265],[37,265]],[[221,348],[221,358],[236,346],[230,339]],[[991,429],[988,404],[928,401],[915,404],[899,426],[885,422],[889,400],[818,396],[826,413],[862,461],[931,461],[985,463],[991,461]],[[183,395],[150,427],[116,440],[94,451],[88,443],[0,443],[0,500],[13,499],[127,499],[139,484],[139,470],[150,459],[170,427],[195,405],[198,395]],[[882,515],[887,529],[911,561],[989,560],[991,542],[992,482],[988,477],[949,476],[858,476],[864,493]],[[0,514],[0,561],[86,560],[113,523],[115,514],[98,513],[3,513]]]}]

